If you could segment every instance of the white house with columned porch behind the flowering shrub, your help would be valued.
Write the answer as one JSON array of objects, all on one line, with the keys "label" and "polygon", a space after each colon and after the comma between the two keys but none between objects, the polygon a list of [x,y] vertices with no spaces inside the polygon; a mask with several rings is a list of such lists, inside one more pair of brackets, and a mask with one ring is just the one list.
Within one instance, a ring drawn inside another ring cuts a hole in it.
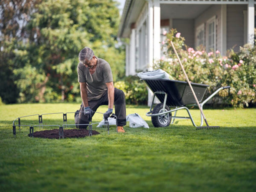
[{"label": "white house with columned porch behind the flowering shrub", "polygon": [[[226,50],[253,43],[256,0],[126,0],[118,36],[128,38],[125,74],[151,70],[161,55],[162,32],[176,28],[185,44]],[[149,100],[150,103],[150,95]]]}]

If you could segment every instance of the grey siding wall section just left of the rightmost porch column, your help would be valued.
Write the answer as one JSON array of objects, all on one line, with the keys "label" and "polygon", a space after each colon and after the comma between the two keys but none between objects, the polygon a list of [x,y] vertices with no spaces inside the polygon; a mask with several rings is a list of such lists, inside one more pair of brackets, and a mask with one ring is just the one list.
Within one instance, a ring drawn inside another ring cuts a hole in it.
[{"label": "grey siding wall section just left of the rightmost porch column", "polygon": [[227,5],[226,7],[226,33],[227,33],[227,49],[233,48],[234,51],[239,50],[239,46],[243,45],[243,10],[247,10],[246,5]]}]

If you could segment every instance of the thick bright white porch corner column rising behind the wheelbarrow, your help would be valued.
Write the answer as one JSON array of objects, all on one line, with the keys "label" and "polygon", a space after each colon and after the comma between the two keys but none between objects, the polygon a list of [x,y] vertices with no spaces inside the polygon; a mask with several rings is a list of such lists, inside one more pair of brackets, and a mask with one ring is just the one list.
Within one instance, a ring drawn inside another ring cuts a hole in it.
[{"label": "thick bright white porch corner column rising behind the wheelbarrow", "polygon": [[160,2],[153,0],[153,60],[160,59]]}]

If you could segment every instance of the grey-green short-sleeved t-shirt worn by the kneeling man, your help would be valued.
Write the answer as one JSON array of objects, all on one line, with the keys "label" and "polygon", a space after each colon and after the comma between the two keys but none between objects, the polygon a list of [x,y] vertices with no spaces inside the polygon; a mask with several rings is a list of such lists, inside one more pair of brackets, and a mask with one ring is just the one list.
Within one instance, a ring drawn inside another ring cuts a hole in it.
[{"label": "grey-green short-sleeved t-shirt worn by the kneeling man", "polygon": [[81,62],[77,65],[78,82],[86,82],[88,100],[99,99],[107,90],[106,82],[112,82],[110,65],[102,58],[97,58],[96,70],[90,74],[89,68]]}]

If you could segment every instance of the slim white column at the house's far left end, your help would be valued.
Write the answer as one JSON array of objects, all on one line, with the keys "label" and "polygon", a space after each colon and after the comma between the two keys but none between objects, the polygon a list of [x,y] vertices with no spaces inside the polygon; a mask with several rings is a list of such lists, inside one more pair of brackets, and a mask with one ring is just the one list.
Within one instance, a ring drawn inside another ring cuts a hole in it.
[{"label": "slim white column at the house's far left end", "polygon": [[136,74],[136,29],[131,29],[130,34],[130,53],[129,53],[129,75],[135,75]]}]

